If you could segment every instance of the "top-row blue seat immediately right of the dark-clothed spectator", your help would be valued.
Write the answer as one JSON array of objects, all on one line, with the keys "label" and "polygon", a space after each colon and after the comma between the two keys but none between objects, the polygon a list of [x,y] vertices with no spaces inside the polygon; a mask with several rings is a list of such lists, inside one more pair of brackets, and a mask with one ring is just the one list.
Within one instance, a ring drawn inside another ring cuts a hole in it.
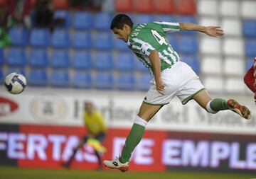
[{"label": "top-row blue seat immediately right of the dark-clothed spectator", "polygon": [[73,26],[80,30],[92,28],[92,13],[76,11],[73,16]]}]

